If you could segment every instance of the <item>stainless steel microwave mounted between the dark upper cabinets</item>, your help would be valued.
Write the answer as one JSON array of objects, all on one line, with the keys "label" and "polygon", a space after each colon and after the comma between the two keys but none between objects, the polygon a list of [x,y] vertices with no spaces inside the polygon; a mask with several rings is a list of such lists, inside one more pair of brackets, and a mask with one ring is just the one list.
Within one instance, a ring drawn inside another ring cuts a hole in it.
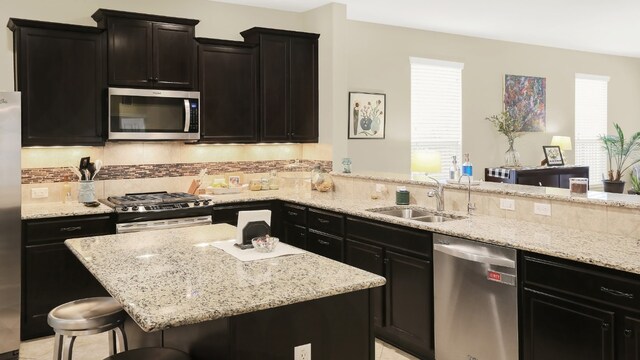
[{"label": "stainless steel microwave mounted between the dark upper cabinets", "polygon": [[109,140],[200,139],[200,92],[109,88]]}]

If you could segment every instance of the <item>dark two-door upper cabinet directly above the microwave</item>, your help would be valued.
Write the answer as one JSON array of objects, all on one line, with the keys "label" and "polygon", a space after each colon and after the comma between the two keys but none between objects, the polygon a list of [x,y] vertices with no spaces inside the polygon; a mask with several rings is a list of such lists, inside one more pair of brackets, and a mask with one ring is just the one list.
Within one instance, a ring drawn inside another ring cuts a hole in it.
[{"label": "dark two-door upper cabinet directly above the microwave", "polygon": [[196,88],[198,20],[106,9],[93,19],[107,29],[110,86]]}]

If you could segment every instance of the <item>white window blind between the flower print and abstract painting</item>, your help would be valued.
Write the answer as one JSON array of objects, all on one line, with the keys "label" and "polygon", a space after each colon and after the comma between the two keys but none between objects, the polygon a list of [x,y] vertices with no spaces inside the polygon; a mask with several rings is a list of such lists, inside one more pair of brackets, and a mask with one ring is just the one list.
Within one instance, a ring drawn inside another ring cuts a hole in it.
[{"label": "white window blind between the flower print and abstract painting", "polygon": [[447,178],[451,157],[462,165],[462,69],[450,61],[411,59],[411,153],[438,151]]}]

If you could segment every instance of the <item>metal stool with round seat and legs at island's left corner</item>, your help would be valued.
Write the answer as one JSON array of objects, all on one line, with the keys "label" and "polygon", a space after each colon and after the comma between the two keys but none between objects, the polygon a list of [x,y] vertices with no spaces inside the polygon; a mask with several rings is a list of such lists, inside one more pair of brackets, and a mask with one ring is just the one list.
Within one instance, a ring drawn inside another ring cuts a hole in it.
[{"label": "metal stool with round seat and legs at island's left corner", "polygon": [[[109,331],[109,355],[127,350],[125,312],[111,297],[93,297],[62,304],[49,312],[47,323],[55,331],[53,360],[71,360],[76,337]],[[67,341],[69,339],[69,341]]]}]

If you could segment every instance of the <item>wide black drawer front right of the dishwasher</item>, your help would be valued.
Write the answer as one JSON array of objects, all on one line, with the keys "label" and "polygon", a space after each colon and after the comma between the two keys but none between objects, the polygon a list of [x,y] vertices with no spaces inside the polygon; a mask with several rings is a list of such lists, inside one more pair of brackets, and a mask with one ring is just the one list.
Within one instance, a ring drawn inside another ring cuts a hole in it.
[{"label": "wide black drawer front right of the dishwasher", "polygon": [[637,309],[640,282],[609,269],[571,261],[525,255],[524,281],[527,285],[573,296]]}]

